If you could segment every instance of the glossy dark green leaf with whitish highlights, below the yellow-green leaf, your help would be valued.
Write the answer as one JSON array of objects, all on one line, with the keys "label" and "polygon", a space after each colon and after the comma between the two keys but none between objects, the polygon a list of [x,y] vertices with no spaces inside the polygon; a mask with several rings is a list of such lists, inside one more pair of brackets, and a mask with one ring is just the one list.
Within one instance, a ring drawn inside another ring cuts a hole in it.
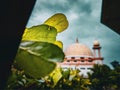
[{"label": "glossy dark green leaf with whitish highlights, below the yellow-green leaf", "polygon": [[62,62],[65,56],[57,45],[47,42],[24,41],[20,46],[49,61]]}]

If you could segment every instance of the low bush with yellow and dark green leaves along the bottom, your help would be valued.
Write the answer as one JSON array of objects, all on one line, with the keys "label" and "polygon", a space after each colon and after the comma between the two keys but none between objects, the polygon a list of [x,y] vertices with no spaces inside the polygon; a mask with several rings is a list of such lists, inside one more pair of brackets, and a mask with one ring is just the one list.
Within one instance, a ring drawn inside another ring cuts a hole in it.
[{"label": "low bush with yellow and dark green leaves along the bottom", "polygon": [[91,84],[89,79],[79,75],[79,70],[56,68],[54,72],[41,79],[30,78],[23,71],[18,71],[14,68],[12,72],[12,77],[9,79],[7,86],[9,90],[89,90],[88,86]]}]

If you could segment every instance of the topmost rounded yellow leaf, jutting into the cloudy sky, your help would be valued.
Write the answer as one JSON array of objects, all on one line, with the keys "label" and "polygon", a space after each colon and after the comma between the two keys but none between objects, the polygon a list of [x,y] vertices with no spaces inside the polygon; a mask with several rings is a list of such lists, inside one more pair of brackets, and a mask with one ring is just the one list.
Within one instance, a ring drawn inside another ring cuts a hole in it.
[{"label": "topmost rounded yellow leaf, jutting into the cloudy sky", "polygon": [[55,27],[57,29],[58,33],[67,29],[68,25],[69,25],[66,16],[62,13],[57,13],[57,14],[51,16],[44,23]]}]

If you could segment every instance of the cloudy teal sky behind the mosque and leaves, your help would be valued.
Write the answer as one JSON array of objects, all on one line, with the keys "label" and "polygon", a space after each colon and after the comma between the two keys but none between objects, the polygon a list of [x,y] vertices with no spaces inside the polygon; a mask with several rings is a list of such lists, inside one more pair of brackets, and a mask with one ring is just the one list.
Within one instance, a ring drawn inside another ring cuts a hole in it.
[{"label": "cloudy teal sky behind the mosque and leaves", "polygon": [[79,43],[92,49],[94,40],[102,47],[101,54],[104,63],[113,60],[120,62],[120,35],[100,23],[102,0],[37,0],[26,27],[42,24],[55,13],[63,13],[69,21],[69,27],[59,33],[64,49],[74,43],[78,37]]}]

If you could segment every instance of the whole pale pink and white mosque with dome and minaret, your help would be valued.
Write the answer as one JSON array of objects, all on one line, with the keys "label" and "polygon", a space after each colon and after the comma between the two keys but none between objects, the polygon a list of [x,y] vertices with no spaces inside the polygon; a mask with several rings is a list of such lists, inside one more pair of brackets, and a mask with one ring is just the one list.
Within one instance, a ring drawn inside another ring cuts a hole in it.
[{"label": "whole pale pink and white mosque with dome and minaret", "polygon": [[103,58],[101,56],[101,46],[98,41],[94,41],[92,50],[78,42],[76,42],[66,48],[64,51],[64,62],[60,63],[60,67],[63,69],[79,69],[80,75],[87,77],[87,73],[91,72],[94,64],[103,64]]}]

